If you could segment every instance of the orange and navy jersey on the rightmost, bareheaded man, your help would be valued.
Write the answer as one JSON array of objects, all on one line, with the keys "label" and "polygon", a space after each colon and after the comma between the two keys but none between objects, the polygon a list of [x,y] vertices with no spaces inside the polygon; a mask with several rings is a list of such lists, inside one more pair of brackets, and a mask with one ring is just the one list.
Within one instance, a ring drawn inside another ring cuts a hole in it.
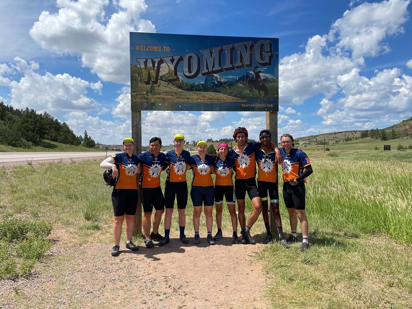
[{"label": "orange and navy jersey on the rightmost, bareheaded man", "polygon": [[[283,181],[289,182],[292,179],[298,178],[303,173],[306,166],[311,165],[308,156],[302,150],[291,148],[289,154],[282,148],[279,149],[283,158]],[[299,183],[305,183],[302,179]]]}]

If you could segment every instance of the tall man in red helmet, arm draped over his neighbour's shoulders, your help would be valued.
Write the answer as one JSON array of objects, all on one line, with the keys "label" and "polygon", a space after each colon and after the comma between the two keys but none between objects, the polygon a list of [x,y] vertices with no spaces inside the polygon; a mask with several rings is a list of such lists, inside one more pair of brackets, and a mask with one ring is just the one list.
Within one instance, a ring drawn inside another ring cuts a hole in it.
[{"label": "tall man in red helmet, arm draped over his neighbour's shoulders", "polygon": [[[262,211],[262,201],[260,199],[258,187],[256,186],[256,169],[255,169],[255,152],[262,146],[260,142],[248,143],[248,130],[244,127],[238,127],[233,132],[233,138],[237,142],[229,151],[229,156],[235,159],[236,180],[234,190],[239,213],[239,224],[243,236],[242,243],[256,244],[250,236],[250,228],[258,220]],[[276,152],[276,162],[281,162],[279,149],[274,143],[271,143],[272,149]],[[253,204],[253,211],[249,216],[246,225],[245,218],[245,197],[248,192],[249,198]]]}]

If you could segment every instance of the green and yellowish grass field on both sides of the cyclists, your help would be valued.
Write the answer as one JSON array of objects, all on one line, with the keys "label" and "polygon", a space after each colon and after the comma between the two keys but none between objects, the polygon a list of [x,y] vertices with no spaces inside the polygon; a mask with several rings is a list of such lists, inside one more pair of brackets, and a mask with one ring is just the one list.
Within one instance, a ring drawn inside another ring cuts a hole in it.
[{"label": "green and yellowish grass field on both sides of the cyclists", "polygon": [[[338,157],[328,157],[308,148],[304,150],[314,169],[307,180],[311,247],[300,253],[298,243],[289,250],[274,243],[257,254],[265,265],[273,307],[412,306],[412,151],[338,150]],[[21,165],[9,173],[0,168],[0,213],[51,220],[73,243],[110,243],[111,190],[104,185],[99,163]],[[190,184],[191,171],[187,175]],[[247,199],[246,214],[250,211]],[[201,233],[206,232],[203,221],[202,215]],[[189,235],[191,222],[189,198]],[[222,229],[225,234],[231,231],[226,210]],[[176,215],[172,230],[178,231]],[[260,217],[251,232],[261,241],[264,231]]]}]

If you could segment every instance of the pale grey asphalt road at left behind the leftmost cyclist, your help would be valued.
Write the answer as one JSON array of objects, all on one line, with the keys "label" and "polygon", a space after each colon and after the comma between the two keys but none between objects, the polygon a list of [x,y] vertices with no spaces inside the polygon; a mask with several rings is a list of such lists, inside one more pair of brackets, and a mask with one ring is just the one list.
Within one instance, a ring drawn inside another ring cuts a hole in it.
[{"label": "pale grey asphalt road at left behind the leftmost cyclist", "polygon": [[[116,151],[108,151],[110,156]],[[106,157],[106,152],[0,152],[0,164],[9,162],[42,161],[70,158]]]}]

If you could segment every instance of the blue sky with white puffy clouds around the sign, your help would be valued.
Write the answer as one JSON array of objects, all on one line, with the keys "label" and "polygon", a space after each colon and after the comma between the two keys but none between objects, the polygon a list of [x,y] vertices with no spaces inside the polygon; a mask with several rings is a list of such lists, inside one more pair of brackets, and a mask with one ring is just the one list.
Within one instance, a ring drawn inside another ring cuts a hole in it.
[{"label": "blue sky with white puffy clouds around the sign", "polygon": [[[279,133],[383,128],[412,115],[410,11],[410,0],[6,0],[0,100],[119,143],[131,134],[129,31],[279,37]],[[144,145],[152,136],[169,144],[175,132],[229,137],[240,125],[257,138],[265,126],[262,112],[142,118]]]}]

